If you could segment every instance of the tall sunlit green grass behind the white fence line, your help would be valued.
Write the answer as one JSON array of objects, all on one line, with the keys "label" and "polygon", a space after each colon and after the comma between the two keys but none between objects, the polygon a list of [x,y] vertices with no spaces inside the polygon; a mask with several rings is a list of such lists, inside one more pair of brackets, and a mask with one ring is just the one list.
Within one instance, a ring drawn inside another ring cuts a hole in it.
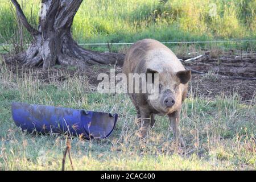
[{"label": "tall sunlit green grass behind the white fence line", "polygon": [[[23,2],[28,21],[36,27],[39,0]],[[213,17],[209,15],[211,3],[216,5]],[[7,1],[0,0],[0,4],[0,43],[20,42],[15,13],[11,13]],[[73,36],[79,43],[135,42],[143,38],[163,42],[255,39],[255,9],[255,1],[250,0],[85,0],[73,22]],[[23,32],[23,43],[30,42],[30,35]]]}]

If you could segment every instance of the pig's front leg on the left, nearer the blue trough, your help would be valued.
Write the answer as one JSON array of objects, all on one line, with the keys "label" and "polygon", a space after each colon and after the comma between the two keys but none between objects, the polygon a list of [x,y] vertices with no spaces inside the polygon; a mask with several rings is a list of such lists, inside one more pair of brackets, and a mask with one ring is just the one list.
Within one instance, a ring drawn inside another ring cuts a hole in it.
[{"label": "pig's front leg on the left, nearer the blue trough", "polygon": [[139,137],[142,139],[147,136],[150,128],[151,113],[147,109],[140,108],[141,111],[141,128],[139,129]]}]

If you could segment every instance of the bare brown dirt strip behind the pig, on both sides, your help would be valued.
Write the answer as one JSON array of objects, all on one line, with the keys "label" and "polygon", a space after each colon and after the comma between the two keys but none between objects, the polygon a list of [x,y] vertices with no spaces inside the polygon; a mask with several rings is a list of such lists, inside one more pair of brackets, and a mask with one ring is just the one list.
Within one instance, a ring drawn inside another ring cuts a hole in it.
[{"label": "bare brown dirt strip behind the pig, on both sides", "polygon": [[[183,60],[191,57],[183,57]],[[190,87],[191,92],[197,96],[214,98],[220,94],[231,96],[238,93],[243,102],[255,100],[256,80],[239,80],[230,76],[256,78],[256,54],[247,55],[224,55],[212,57],[205,54],[198,60],[184,63],[185,68],[208,73],[206,75],[192,74]],[[92,65],[86,69],[74,67],[55,67],[49,71],[42,71],[42,68],[16,69],[16,65],[7,65],[11,72],[22,77],[23,73],[32,73],[34,77],[50,82],[52,80],[64,81],[68,77],[85,76],[89,84],[96,88],[101,80],[97,80],[99,73],[110,75],[113,65]],[[115,75],[122,72],[122,67],[115,67]]]}]

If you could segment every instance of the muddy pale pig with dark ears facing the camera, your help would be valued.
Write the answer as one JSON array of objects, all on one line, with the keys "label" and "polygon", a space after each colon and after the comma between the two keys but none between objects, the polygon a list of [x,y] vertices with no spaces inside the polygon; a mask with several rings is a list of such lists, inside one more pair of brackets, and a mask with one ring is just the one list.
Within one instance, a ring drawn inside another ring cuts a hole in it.
[{"label": "muddy pale pig with dark ears facing the camera", "polygon": [[175,142],[184,147],[179,119],[181,105],[187,97],[191,70],[185,69],[171,49],[162,43],[153,39],[143,39],[134,43],[127,51],[123,63],[123,73],[127,78],[130,73],[159,74],[159,94],[154,100],[148,99],[148,91],[146,93],[128,92],[137,111],[137,118],[141,121],[139,136],[141,138],[147,136],[150,127],[155,124],[155,114],[168,115]]}]

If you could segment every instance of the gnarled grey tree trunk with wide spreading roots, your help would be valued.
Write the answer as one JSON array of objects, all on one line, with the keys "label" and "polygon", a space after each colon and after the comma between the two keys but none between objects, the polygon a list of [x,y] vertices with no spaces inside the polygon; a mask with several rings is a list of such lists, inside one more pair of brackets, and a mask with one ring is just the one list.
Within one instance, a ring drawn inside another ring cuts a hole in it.
[{"label": "gnarled grey tree trunk with wide spreading roots", "polygon": [[73,40],[71,26],[82,0],[42,0],[38,30],[27,22],[19,3],[16,0],[11,1],[20,21],[33,36],[33,42],[26,51],[7,61],[16,60],[28,66],[43,64],[43,69],[55,64],[82,68],[88,64],[123,64],[122,54],[88,51]]}]

